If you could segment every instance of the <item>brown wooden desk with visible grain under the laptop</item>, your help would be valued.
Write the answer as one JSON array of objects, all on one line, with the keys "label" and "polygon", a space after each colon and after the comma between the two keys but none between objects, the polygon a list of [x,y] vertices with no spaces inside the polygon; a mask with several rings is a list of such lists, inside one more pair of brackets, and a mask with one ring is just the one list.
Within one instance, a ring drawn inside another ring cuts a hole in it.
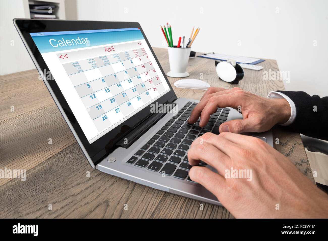
[{"label": "brown wooden desk with visible grain under the laptop", "polygon": [[[154,48],[165,72],[169,71],[166,49]],[[275,60],[259,65],[263,71],[278,70]],[[193,58],[190,77],[211,86],[232,88],[218,80],[213,60]],[[177,79],[170,78],[173,85]],[[0,77],[0,169],[26,169],[26,181],[0,179],[0,213],[10,218],[187,217],[232,218],[224,207],[158,191],[92,169],[34,70]],[[263,81],[262,71],[245,69],[240,88],[261,96],[284,90],[282,81]],[[178,97],[200,99],[205,91],[173,89]],[[11,106],[14,111],[11,112]],[[49,138],[52,144],[48,144]],[[300,135],[274,129],[276,149],[314,182]],[[87,172],[90,177],[87,177]],[[52,210],[48,205],[52,205]],[[128,204],[128,210],[124,210]]]}]

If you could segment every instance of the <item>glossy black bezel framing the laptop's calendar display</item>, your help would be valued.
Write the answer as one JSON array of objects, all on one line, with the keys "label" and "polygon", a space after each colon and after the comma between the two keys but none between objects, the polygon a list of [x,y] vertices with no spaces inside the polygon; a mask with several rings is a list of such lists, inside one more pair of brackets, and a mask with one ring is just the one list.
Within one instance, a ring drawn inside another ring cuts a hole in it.
[{"label": "glossy black bezel framing the laptop's calendar display", "polygon": [[[36,19],[14,19],[14,23],[18,26],[21,34],[27,43],[28,47],[33,54],[37,64],[40,66],[41,70],[46,70],[47,73],[49,70],[47,64],[45,63],[41,53],[39,52],[37,46],[35,45],[30,33],[35,32],[57,32],[57,31],[82,31],[82,30],[98,30],[98,29],[115,29],[115,28],[139,28],[143,37],[146,40],[147,45],[149,46],[155,61],[157,62],[166,82],[170,87],[170,91],[152,102],[151,104],[158,103],[166,103],[168,101],[173,101],[176,99],[176,95],[173,91],[171,84],[169,83],[156,55],[152,47],[150,46],[148,39],[146,38],[141,26],[137,22],[105,22],[105,21],[71,21],[71,20],[36,20]],[[31,56],[32,57],[32,56]],[[36,65],[38,68],[38,66]],[[124,121],[117,127],[115,127],[110,132],[106,133],[96,141],[89,143],[88,139],[84,135],[79,123],[75,119],[75,116],[66,102],[62,92],[60,91],[57,83],[55,81],[44,80],[49,83],[54,95],[56,96],[59,104],[64,110],[68,120],[70,121],[74,131],[76,132],[78,138],[82,142],[85,150],[90,156],[94,165],[99,163],[104,157],[108,156],[111,152],[116,148],[115,146],[109,144],[112,143],[113,140],[117,139],[119,136],[124,136],[125,133],[129,132],[129,130],[137,126],[140,122],[145,120],[147,117],[151,115],[150,109],[151,104],[144,107],[138,113],[133,115],[128,120]]]}]

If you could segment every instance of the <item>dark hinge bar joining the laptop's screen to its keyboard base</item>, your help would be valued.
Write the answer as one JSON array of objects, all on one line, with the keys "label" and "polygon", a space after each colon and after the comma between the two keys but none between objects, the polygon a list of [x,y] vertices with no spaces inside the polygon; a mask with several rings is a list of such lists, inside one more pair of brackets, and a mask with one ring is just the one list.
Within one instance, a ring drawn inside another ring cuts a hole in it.
[{"label": "dark hinge bar joining the laptop's screen to its keyboard base", "polygon": [[[173,102],[166,102],[165,104],[167,104],[166,106],[168,106],[165,113],[151,114],[144,121],[140,122],[138,125],[133,127],[133,129],[131,129],[129,133],[127,133],[123,137],[120,137],[120,139],[116,141],[115,146],[128,148],[143,134],[145,134],[150,128],[152,128],[154,124],[157,123],[157,121],[162,119],[167,113],[172,112],[172,109],[175,107],[175,105],[177,105]],[[136,131],[136,130],[140,130],[140,131]]]}]

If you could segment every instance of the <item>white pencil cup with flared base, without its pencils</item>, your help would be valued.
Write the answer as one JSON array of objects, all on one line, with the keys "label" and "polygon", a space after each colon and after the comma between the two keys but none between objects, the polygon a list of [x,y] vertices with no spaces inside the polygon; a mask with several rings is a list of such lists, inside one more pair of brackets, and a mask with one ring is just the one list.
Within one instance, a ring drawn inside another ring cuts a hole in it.
[{"label": "white pencil cup with flared base, without its pencils", "polygon": [[186,72],[191,48],[176,48],[169,47],[170,70],[166,73],[167,76],[182,78],[188,77]]}]

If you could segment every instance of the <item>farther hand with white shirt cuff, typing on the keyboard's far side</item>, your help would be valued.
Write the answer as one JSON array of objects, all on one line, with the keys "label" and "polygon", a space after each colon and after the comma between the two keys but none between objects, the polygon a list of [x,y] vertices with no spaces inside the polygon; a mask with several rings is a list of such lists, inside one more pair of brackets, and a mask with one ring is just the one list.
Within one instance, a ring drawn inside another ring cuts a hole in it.
[{"label": "farther hand with white shirt cuff, typing on the keyboard's far side", "polygon": [[243,115],[243,120],[221,124],[220,133],[264,132],[275,124],[287,122],[291,116],[290,105],[285,99],[267,99],[237,87],[210,87],[193,109],[188,122],[195,123],[200,116],[199,126],[205,126],[217,107],[232,107]]}]

